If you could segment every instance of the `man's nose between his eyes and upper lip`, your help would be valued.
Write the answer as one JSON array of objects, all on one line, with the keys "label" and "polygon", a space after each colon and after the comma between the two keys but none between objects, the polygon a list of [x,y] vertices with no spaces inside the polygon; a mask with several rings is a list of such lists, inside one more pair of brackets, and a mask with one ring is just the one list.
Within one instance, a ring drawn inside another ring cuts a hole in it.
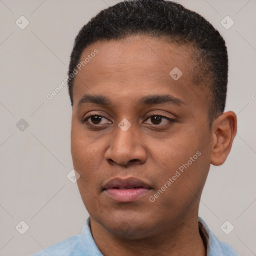
[{"label": "man's nose between his eyes and upper lip", "polygon": [[109,147],[105,152],[105,158],[110,164],[141,164],[146,161],[146,145],[142,142],[135,127],[123,131],[118,126],[116,133],[110,139]]}]

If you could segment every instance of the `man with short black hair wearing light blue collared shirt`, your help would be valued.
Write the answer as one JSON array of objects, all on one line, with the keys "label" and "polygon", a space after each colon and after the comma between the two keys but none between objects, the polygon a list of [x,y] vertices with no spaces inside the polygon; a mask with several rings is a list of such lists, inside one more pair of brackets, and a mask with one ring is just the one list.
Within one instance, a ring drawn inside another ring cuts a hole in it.
[{"label": "man with short black hair wearing light blue collared shirt", "polygon": [[34,255],[237,255],[198,218],[210,163],[225,161],[236,133],[227,70],[219,32],[171,1],[120,2],[84,25],[68,85],[90,217]]}]

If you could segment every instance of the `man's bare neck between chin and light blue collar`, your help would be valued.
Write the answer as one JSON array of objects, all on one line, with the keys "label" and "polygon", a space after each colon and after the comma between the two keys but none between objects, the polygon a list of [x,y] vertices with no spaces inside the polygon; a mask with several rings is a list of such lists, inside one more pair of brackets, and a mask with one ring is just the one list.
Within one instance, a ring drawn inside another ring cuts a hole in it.
[{"label": "man's bare neck between chin and light blue collar", "polygon": [[[144,238],[132,239],[117,236],[90,218],[93,239],[104,256],[206,256],[206,250],[198,230],[197,218],[182,221]],[[114,252],[114,253],[113,253]]]}]

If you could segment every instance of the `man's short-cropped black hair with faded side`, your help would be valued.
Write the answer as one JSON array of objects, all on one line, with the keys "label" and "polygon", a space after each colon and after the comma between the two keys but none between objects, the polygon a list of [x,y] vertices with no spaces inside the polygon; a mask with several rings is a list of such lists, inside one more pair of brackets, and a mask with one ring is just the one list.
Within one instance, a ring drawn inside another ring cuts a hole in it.
[{"label": "man's short-cropped black hair with faded side", "polygon": [[[96,41],[118,40],[131,35],[164,37],[175,43],[190,43],[195,49],[195,84],[209,88],[210,119],[224,111],[228,58],[220,33],[201,15],[168,0],[125,0],[101,10],[75,37],[68,68],[68,91],[73,104],[73,71],[83,50]],[[72,77],[71,77],[71,76]],[[210,121],[211,123],[211,121]]]}]

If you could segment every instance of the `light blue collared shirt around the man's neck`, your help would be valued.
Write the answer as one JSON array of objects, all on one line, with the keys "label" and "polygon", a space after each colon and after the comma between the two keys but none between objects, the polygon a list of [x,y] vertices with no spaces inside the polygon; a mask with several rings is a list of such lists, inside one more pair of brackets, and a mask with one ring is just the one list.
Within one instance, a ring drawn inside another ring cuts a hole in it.
[{"label": "light blue collared shirt around the man's neck", "polygon": [[[91,235],[89,219],[85,221],[81,234],[70,236],[31,256],[103,256]],[[200,217],[198,222],[200,234],[207,244],[207,256],[238,256],[229,244],[217,239]]]}]

